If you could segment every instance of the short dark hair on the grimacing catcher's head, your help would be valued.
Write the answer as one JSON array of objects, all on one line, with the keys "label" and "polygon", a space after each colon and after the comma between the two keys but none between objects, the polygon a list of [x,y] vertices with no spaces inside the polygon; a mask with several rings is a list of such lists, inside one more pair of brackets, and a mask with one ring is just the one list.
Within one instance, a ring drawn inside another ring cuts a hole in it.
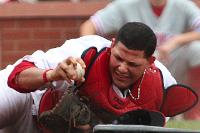
[{"label": "short dark hair on the grimacing catcher's head", "polygon": [[150,57],[156,48],[156,35],[150,27],[140,22],[128,22],[119,30],[116,43],[123,43],[127,48],[144,51]]}]

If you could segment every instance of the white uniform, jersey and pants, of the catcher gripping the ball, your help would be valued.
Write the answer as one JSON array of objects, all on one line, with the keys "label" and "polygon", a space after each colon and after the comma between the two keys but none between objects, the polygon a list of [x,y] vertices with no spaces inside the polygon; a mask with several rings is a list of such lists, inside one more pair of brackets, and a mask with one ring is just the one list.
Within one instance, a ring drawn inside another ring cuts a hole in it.
[{"label": "white uniform, jersey and pants, of the catcher gripping the ball", "polygon": [[[97,35],[84,36],[78,39],[67,40],[61,47],[48,50],[46,53],[38,50],[32,55],[27,55],[21,60],[28,60],[33,62],[38,68],[49,69],[55,68],[57,64],[69,56],[81,57],[81,54],[89,47],[95,46],[97,50],[103,47],[110,47],[111,42]],[[7,85],[7,78],[16,64],[9,65],[6,69],[0,71],[0,128],[9,126],[10,132],[0,133],[33,133],[34,124],[32,121],[31,106],[34,103],[39,106],[40,96],[42,91],[22,94],[11,89]],[[176,84],[175,79],[171,76],[169,71],[158,61],[155,65],[162,71],[164,78],[164,86],[167,88],[172,84]],[[59,81],[58,81],[59,82]],[[57,84],[56,84],[57,85]],[[58,83],[59,85],[59,83]],[[7,128],[4,128],[7,129]]]}]

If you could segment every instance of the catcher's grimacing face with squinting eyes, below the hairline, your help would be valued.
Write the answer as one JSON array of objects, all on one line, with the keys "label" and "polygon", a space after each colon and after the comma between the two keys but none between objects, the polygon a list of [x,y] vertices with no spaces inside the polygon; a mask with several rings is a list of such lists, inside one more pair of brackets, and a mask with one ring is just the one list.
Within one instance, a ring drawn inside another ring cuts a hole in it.
[{"label": "catcher's grimacing face with squinting eyes, below the hairline", "polygon": [[121,42],[112,43],[110,72],[113,83],[120,89],[132,85],[149,65],[150,60],[144,57],[144,51],[130,50]]}]

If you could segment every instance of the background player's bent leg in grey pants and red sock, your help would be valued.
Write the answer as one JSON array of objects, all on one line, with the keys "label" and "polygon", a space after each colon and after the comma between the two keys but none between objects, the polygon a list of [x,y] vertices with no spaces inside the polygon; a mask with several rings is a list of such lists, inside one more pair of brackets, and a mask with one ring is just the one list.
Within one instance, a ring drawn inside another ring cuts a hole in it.
[{"label": "background player's bent leg in grey pants and red sock", "polygon": [[[195,41],[171,54],[168,69],[178,83],[186,84],[200,96],[200,42]],[[184,114],[185,119],[200,120],[200,103]]]}]

